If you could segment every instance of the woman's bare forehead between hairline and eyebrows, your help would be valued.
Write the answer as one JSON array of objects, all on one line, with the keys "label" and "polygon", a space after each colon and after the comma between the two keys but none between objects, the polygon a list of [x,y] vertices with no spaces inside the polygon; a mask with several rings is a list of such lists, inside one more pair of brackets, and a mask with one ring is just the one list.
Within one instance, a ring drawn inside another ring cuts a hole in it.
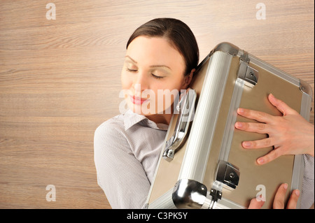
[{"label": "woman's bare forehead between hairline and eyebrows", "polygon": [[185,68],[181,53],[169,43],[167,38],[138,36],[128,46],[126,55],[141,65]]}]

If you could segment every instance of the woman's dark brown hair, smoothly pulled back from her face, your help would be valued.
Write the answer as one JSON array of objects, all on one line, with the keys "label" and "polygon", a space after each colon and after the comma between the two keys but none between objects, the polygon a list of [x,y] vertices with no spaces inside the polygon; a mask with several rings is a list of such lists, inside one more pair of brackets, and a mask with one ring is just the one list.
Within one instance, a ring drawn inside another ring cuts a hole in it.
[{"label": "woman's dark brown hair, smoothly pulled back from her face", "polygon": [[185,75],[190,74],[199,62],[199,48],[196,38],[190,28],[181,20],[173,18],[158,18],[141,25],[130,36],[127,47],[138,36],[167,38],[169,43],[178,50],[186,63]]}]

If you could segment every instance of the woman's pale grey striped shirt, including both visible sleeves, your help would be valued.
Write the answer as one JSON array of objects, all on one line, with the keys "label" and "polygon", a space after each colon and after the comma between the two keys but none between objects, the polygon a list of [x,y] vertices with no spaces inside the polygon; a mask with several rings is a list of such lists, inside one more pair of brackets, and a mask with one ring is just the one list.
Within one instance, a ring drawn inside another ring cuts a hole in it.
[{"label": "woman's pale grey striped shirt, including both visible sleeves", "polygon": [[[128,110],[94,134],[97,183],[112,208],[144,208],[168,126]],[[304,155],[301,208],[314,203],[314,157]]]}]

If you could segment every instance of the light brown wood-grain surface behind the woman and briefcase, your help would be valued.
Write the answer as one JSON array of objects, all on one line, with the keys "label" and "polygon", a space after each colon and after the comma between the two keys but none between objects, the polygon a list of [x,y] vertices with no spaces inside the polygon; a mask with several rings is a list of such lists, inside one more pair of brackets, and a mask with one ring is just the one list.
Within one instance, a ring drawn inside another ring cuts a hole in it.
[{"label": "light brown wood-grain surface behind the woman and briefcase", "polygon": [[97,185],[94,130],[119,113],[127,39],[155,17],[186,22],[200,59],[228,41],[314,91],[313,0],[126,2],[0,1],[0,208],[111,208]]}]

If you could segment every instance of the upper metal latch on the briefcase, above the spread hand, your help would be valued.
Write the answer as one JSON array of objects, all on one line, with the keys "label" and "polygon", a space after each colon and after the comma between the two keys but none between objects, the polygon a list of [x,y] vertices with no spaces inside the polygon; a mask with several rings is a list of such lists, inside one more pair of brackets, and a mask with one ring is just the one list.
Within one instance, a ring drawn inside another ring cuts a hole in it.
[{"label": "upper metal latch on the briefcase, above the spread hand", "polygon": [[244,51],[244,54],[240,57],[237,78],[243,80],[244,85],[254,87],[258,82],[258,71],[249,66],[249,61],[248,53]]}]

